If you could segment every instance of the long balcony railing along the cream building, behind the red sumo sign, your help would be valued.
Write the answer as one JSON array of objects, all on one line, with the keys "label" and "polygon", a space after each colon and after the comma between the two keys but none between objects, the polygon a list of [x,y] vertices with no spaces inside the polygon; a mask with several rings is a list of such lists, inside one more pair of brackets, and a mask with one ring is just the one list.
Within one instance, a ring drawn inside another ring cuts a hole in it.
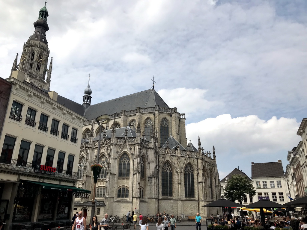
[{"label": "long balcony railing along the cream building, behind the red sumo sign", "polygon": [[[22,165],[21,165],[22,164]],[[36,166],[36,163],[34,163]],[[34,166],[34,165],[33,165]],[[20,173],[36,173],[32,167],[32,162],[18,162],[16,159],[11,159],[10,163],[0,163],[0,169],[10,169]],[[38,173],[39,174],[39,173]],[[51,176],[51,175],[49,175]],[[72,180],[77,179],[77,173],[72,171],[62,170],[62,172],[56,171],[54,177],[68,178]]]}]

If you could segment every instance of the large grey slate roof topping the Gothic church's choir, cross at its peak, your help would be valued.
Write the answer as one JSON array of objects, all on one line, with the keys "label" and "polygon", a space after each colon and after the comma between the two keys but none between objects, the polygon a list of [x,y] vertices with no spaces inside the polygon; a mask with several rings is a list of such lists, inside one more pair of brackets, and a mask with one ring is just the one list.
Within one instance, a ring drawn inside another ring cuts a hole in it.
[{"label": "large grey slate roof topping the Gothic church's choir, cross at its peak", "polygon": [[149,89],[91,105],[85,110],[84,117],[91,120],[102,114],[112,115],[114,113],[120,113],[122,110],[130,111],[137,107],[149,108],[154,107],[155,105],[169,108],[156,90]]}]

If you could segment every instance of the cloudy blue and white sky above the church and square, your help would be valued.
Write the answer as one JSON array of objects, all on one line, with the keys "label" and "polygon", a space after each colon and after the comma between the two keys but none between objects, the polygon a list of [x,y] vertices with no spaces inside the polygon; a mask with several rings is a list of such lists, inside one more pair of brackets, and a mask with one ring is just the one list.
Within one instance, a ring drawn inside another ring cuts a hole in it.
[{"label": "cloudy blue and white sky above the church and square", "polygon": [[[44,0],[0,1],[0,77]],[[92,104],[154,88],[215,146],[220,180],[251,162],[288,163],[306,114],[305,0],[49,0],[50,90]],[[18,59],[19,61],[19,59]]]}]

